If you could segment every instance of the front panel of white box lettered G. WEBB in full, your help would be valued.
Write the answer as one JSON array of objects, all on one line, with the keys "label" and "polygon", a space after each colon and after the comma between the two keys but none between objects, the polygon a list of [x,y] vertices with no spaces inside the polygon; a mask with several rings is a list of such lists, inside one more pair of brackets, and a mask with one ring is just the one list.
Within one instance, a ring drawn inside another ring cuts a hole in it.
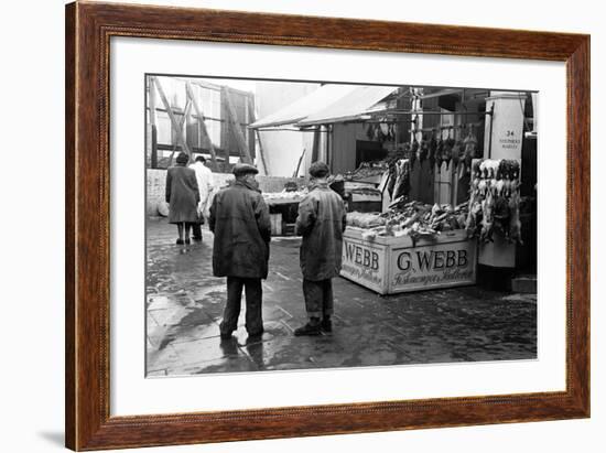
[{"label": "front panel of white box lettered G. WEBB in full", "polygon": [[476,244],[461,240],[393,248],[390,292],[473,284],[476,281]]}]

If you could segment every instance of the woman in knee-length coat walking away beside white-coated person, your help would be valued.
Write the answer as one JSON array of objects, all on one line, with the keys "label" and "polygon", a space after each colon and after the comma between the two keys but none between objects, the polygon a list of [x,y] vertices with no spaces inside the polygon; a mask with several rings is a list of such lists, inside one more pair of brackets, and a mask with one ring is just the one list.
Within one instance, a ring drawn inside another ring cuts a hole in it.
[{"label": "woman in knee-length coat walking away beside white-coated person", "polygon": [[198,220],[199,203],[196,172],[188,169],[190,158],[184,152],[176,157],[176,165],[166,172],[166,203],[170,206],[169,223],[176,224],[176,244],[190,244],[190,228]]}]

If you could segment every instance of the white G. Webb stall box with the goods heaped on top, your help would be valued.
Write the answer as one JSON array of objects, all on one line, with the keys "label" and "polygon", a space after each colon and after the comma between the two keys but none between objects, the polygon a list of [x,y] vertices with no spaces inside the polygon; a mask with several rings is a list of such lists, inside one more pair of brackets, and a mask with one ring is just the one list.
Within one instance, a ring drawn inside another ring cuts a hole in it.
[{"label": "white G. Webb stall box with the goods heaped on top", "polygon": [[348,214],[340,274],[380,294],[474,284],[476,241],[462,228],[464,211],[412,202]]}]

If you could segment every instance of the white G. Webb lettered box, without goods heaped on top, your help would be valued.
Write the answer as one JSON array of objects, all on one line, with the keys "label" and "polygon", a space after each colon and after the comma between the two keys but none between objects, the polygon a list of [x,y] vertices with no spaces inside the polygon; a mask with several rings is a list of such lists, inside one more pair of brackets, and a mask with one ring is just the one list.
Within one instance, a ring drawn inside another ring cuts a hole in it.
[{"label": "white G. Webb lettered box, without goods heaped on top", "polygon": [[435,239],[377,236],[347,227],[343,237],[342,277],[379,294],[442,289],[476,283],[476,240],[465,230],[444,231]]}]

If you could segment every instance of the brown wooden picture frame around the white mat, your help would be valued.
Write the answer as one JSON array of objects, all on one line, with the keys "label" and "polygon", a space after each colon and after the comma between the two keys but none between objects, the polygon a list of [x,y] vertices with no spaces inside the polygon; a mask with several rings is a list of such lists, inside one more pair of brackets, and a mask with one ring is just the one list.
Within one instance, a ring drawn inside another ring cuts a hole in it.
[{"label": "brown wooden picture frame around the white mat", "polygon": [[[110,417],[110,37],[565,62],[566,389],[507,396]],[[589,416],[589,36],[204,9],[66,7],[66,445],[191,444]]]}]

